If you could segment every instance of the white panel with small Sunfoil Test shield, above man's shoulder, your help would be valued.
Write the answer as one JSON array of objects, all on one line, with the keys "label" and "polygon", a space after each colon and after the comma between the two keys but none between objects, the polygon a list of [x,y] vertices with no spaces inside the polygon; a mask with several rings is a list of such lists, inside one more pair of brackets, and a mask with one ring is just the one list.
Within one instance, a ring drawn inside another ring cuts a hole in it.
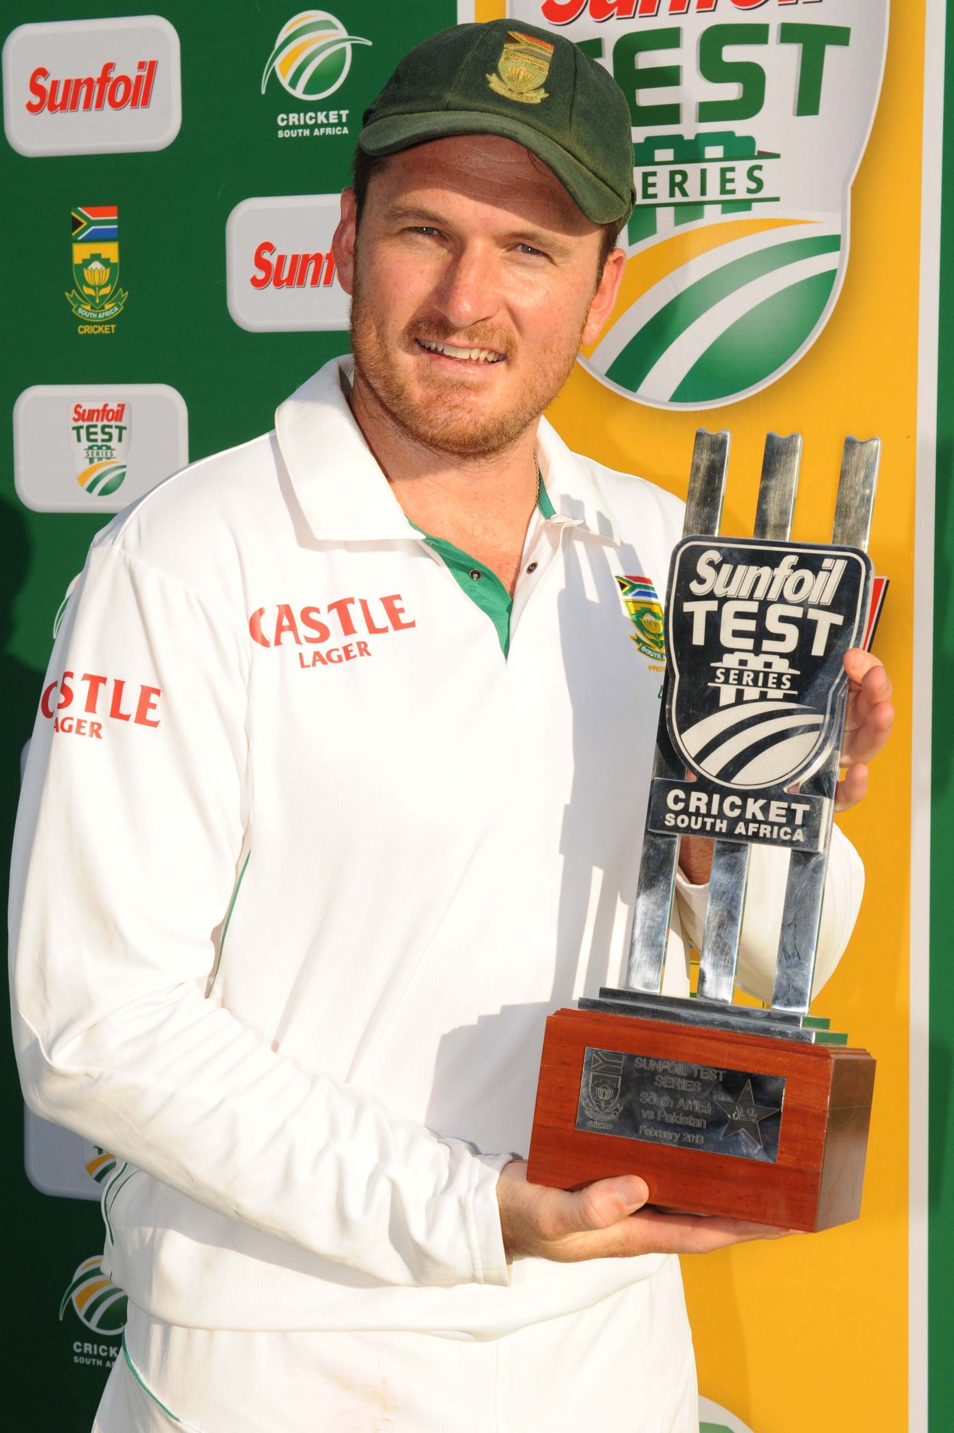
[{"label": "white panel with small Sunfoil Test shield, above man's shoulder", "polygon": [[188,461],[185,400],[165,383],[40,384],[13,408],[13,477],[36,513],[117,513]]}]

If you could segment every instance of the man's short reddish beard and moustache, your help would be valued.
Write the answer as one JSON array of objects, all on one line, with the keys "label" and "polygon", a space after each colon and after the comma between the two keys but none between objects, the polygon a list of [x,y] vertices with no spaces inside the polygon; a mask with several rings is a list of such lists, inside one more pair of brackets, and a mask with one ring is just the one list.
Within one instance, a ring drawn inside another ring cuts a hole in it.
[{"label": "man's short reddish beard and moustache", "polygon": [[[427,377],[413,385],[394,363],[394,342],[385,335],[374,304],[368,301],[355,267],[351,295],[351,351],[355,370],[401,433],[430,449],[453,457],[491,457],[511,447],[536,424],[543,410],[556,398],[570,377],[586,315],[579,331],[567,334],[563,344],[546,345],[526,378],[507,390],[503,406],[491,411],[483,408],[483,396],[470,385],[468,375],[454,373]],[[401,338],[413,345],[423,338],[428,342],[454,342],[460,347],[491,348],[511,360],[516,340],[511,332],[493,324],[473,324],[467,330],[454,328],[440,317],[411,320]]]}]

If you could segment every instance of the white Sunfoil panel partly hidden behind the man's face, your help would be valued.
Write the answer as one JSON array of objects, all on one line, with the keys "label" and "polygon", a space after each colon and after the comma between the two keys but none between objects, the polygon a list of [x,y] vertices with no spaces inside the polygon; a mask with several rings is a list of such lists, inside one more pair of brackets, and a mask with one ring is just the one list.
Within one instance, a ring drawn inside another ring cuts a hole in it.
[{"label": "white Sunfoil panel partly hidden behind the man's face", "polygon": [[331,239],[337,193],[244,199],[225,226],[229,314],[252,332],[347,328]]}]

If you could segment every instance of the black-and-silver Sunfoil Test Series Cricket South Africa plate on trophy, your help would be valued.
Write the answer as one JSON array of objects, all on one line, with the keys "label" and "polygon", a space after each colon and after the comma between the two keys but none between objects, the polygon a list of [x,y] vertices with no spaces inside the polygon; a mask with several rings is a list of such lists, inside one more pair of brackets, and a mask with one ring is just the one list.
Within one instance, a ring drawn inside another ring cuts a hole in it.
[{"label": "black-and-silver Sunfoil Test Series Cricket South Africa plate on trophy", "polygon": [[794,791],[842,715],[871,559],[824,545],[685,537],[666,613],[669,737],[692,781],[653,781],[649,830],[821,850],[822,797]]}]

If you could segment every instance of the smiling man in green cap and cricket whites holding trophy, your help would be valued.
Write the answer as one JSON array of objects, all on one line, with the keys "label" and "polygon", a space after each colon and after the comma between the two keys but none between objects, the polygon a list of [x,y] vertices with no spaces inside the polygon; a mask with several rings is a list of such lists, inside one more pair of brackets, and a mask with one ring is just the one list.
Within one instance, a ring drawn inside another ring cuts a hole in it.
[{"label": "smiling man in green cap and cricket whites holding trophy", "polygon": [[[521,1161],[546,1012],[619,983],[659,675],[616,577],[662,589],[682,523],[540,418],[619,291],[626,105],[563,39],[461,26],[361,149],[354,365],[99,535],[37,716],[17,1046],[32,1108],[120,1156],[96,1430],[696,1433],[672,1254],[766,1231]],[[844,804],[891,721],[849,674]],[[819,980],[859,893],[839,837]]]}]

